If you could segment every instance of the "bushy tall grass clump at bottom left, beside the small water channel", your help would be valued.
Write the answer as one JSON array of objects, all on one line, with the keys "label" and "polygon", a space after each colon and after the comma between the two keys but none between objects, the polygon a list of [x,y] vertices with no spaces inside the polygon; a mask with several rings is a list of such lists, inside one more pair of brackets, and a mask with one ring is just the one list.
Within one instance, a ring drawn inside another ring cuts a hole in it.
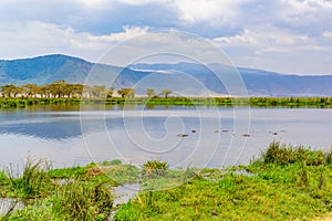
[{"label": "bushy tall grass clump at bottom left, beside the small water channel", "polygon": [[105,220],[114,196],[103,182],[71,180],[43,201],[13,212],[8,220]]}]

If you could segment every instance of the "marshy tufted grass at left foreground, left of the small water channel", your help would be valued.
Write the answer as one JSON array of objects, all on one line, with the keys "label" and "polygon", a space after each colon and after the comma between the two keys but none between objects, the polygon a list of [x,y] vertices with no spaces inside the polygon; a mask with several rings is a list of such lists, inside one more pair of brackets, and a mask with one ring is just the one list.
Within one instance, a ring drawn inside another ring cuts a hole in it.
[{"label": "marshy tufted grass at left foreground, left of the small water channel", "polygon": [[[100,173],[90,173],[96,168]],[[21,173],[0,171],[1,197],[27,206],[0,220],[105,220],[113,207],[112,187],[137,178],[138,169],[120,160],[51,169],[44,160],[28,158]]]}]

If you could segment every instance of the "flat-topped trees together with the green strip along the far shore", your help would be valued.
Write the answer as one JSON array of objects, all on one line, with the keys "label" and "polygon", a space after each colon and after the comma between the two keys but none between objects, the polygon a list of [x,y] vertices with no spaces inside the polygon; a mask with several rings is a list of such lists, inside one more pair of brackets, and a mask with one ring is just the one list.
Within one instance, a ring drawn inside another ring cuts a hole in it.
[{"label": "flat-topped trees together with the green strip along the far shore", "polygon": [[252,107],[332,107],[332,97],[175,97],[172,90],[146,90],[145,96],[135,97],[134,88],[106,88],[70,84],[65,81],[39,86],[0,86],[0,108],[24,108],[33,105],[203,105]]}]

